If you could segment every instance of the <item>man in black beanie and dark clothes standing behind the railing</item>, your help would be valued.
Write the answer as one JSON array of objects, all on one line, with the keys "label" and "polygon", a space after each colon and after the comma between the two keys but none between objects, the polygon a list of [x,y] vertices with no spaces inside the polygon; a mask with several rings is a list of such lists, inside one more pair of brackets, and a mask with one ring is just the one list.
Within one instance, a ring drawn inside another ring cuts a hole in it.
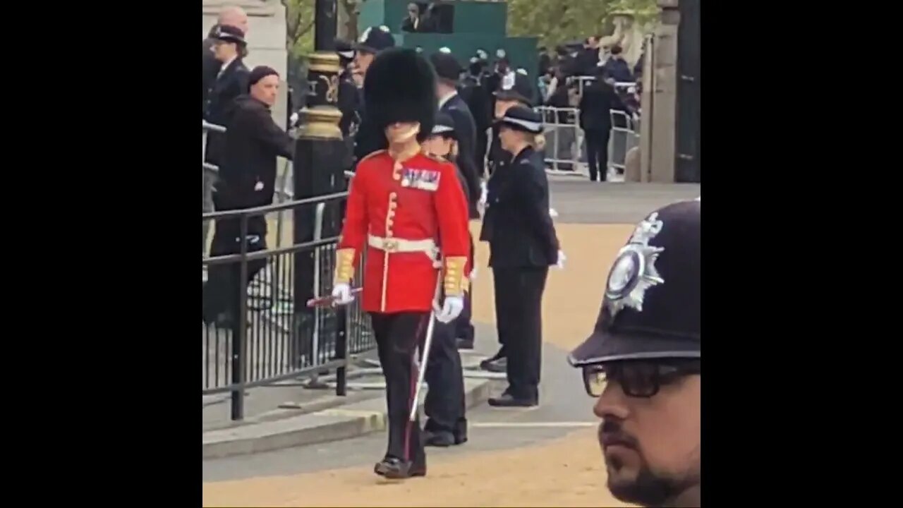
[{"label": "man in black beanie and dark clothes standing behind the railing", "polygon": [[[265,66],[256,67],[248,76],[247,95],[235,99],[234,108],[224,118],[226,134],[223,160],[219,168],[219,183],[213,194],[218,212],[265,206],[273,202],[276,178],[276,156],[293,159],[294,141],[276,125],[273,107],[279,93],[279,74]],[[241,251],[266,249],[266,221],[262,215],[248,218],[247,236],[242,238],[239,219],[216,222],[211,256],[225,256]],[[247,263],[247,285],[265,267],[265,259]],[[237,323],[237,296],[240,264],[220,264],[209,268],[209,278],[203,288],[203,321],[219,325]]]}]

